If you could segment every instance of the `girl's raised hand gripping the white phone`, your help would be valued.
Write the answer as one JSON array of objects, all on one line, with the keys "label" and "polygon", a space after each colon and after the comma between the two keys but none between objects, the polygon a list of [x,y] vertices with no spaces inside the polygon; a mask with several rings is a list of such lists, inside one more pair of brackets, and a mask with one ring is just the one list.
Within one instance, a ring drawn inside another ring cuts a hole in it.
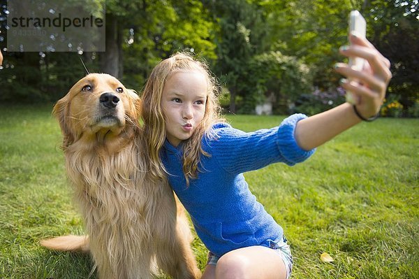
[{"label": "girl's raised hand gripping the white phone", "polygon": [[351,69],[348,64],[338,63],[335,70],[346,79],[341,86],[351,91],[358,112],[365,118],[376,115],[383,104],[385,91],[392,77],[390,61],[383,57],[366,38],[351,34],[351,46],[340,48],[346,57],[361,57],[366,60],[362,70]]}]

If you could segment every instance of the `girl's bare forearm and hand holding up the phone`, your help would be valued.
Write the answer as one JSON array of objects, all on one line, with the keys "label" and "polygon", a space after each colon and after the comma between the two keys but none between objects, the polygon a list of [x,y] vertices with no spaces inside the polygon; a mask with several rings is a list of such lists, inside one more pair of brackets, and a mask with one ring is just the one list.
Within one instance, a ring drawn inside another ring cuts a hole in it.
[{"label": "girl's bare forearm and hand holding up the phone", "polygon": [[[376,115],[383,104],[391,78],[390,62],[367,39],[356,34],[351,34],[349,39],[352,45],[341,48],[341,54],[347,57],[362,57],[367,63],[362,71],[351,69],[344,63],[337,64],[335,70],[346,77],[341,80],[341,86],[352,92],[356,100],[356,110],[363,118],[368,119]],[[353,105],[343,103],[298,122],[295,138],[300,148],[311,150],[361,121],[355,114]]]}]

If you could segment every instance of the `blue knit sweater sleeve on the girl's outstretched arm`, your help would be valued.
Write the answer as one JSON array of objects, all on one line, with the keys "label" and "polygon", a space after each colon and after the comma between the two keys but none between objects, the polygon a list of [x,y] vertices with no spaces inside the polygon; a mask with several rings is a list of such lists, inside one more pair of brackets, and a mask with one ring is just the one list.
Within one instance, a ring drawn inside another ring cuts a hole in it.
[{"label": "blue knit sweater sleeve on the girl's outstretched arm", "polygon": [[302,150],[295,141],[295,125],[306,117],[302,114],[291,115],[279,127],[249,133],[225,123],[216,124],[216,137],[207,142],[207,148],[229,173],[253,171],[277,162],[293,166],[309,158],[315,151]]}]

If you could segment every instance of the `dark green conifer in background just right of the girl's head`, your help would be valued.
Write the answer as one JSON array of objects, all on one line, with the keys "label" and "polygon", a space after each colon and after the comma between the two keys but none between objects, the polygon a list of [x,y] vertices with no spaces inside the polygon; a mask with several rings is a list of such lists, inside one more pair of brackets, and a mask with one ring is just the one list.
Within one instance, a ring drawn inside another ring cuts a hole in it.
[{"label": "dark green conifer in background just right of the girl's head", "polygon": [[252,98],[248,80],[249,62],[263,50],[263,17],[260,7],[245,0],[204,1],[219,24],[216,36],[217,76],[230,91],[230,112],[235,113],[237,96]]}]

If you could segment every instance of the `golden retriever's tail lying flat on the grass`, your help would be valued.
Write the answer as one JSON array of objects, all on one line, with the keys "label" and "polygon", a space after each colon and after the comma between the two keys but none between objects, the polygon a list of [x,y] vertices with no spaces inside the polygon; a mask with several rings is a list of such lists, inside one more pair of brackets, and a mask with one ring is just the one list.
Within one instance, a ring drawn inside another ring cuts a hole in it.
[{"label": "golden retriever's tail lying flat on the grass", "polygon": [[58,236],[54,238],[43,239],[41,245],[50,250],[71,251],[71,252],[89,252],[89,236]]}]

